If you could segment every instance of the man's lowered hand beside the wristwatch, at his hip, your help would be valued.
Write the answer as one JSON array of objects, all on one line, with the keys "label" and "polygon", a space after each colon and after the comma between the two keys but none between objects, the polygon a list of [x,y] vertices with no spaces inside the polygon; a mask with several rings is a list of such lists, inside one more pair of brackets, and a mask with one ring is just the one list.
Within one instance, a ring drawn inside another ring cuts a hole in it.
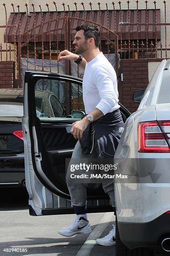
[{"label": "man's lowered hand beside the wristwatch, at his hip", "polygon": [[76,140],[79,140],[82,138],[82,133],[83,131],[85,131],[89,123],[90,121],[88,121],[86,117],[80,121],[76,121],[75,123],[72,123],[72,128],[70,132],[72,133],[72,135]]}]

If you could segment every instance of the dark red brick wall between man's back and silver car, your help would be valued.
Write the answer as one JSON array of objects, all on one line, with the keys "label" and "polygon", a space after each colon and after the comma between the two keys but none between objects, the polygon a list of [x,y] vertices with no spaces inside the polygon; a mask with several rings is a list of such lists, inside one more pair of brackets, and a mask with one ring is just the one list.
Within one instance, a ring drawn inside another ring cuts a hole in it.
[{"label": "dark red brick wall between man's back and silver car", "polygon": [[139,106],[132,100],[133,92],[148,86],[148,59],[122,59],[121,65],[122,104],[133,113]]}]

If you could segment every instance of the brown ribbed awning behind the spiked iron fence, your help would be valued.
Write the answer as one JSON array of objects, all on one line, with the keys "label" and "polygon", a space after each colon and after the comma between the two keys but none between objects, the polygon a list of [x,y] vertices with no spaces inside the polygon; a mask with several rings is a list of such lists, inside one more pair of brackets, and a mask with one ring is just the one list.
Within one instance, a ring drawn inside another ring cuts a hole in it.
[{"label": "brown ribbed awning behind the spiked iron fence", "polygon": [[[128,21],[128,10],[122,10],[122,21]],[[100,24],[100,12],[98,10],[93,11],[93,20],[94,22]],[[86,20],[92,20],[92,13],[91,11],[85,11],[86,15]],[[138,10],[138,23],[146,23],[147,22],[147,13],[146,10]],[[69,16],[68,12],[66,12],[66,15]],[[157,23],[160,23],[160,9],[156,10],[156,16],[157,16]],[[64,17],[64,12],[58,12],[58,18]],[[77,17],[77,14],[75,11],[70,12],[70,17]],[[19,15],[18,13],[15,14],[16,18],[16,24],[19,25]],[[56,12],[50,12],[50,18],[55,19],[57,18],[57,13]],[[84,18],[84,12],[83,11],[78,11],[78,18]],[[43,12],[43,21],[49,20],[49,14],[47,12]],[[35,13],[35,24],[38,25],[41,23],[41,13]],[[84,23],[83,21],[79,20],[78,25],[81,25]],[[146,26],[130,26],[130,33],[129,33],[129,28],[128,26],[122,26],[122,33],[121,33],[121,28],[120,28],[120,10],[115,10],[115,15],[113,10],[109,10],[109,28],[112,31],[115,31],[118,34],[119,40],[122,37],[122,40],[128,40],[130,37],[130,40],[135,40],[135,39],[146,39],[147,38],[147,28]],[[137,10],[130,10],[130,23],[137,23]],[[155,10],[148,10],[148,23],[155,23]],[[8,20],[8,25],[14,25],[15,20],[14,20],[14,13],[10,14],[10,18]],[[107,11],[102,10],[101,11],[101,24],[107,28]],[[21,26],[21,35],[25,33],[28,29],[28,17],[26,13],[20,13],[20,26]],[[29,29],[34,26],[34,14],[30,13],[29,14]],[[77,26],[77,20],[71,20],[70,23],[70,28],[75,28]],[[50,24],[45,24],[43,26],[43,31],[47,31],[50,28],[54,29],[57,27],[57,21],[51,22]],[[62,19],[58,21],[58,28],[62,28],[61,30],[58,31],[58,41],[65,41],[65,20]],[[15,30],[16,30],[16,42],[18,42],[18,37],[19,37],[19,26],[17,28],[7,28],[7,36],[6,36],[6,31],[4,33],[4,42],[11,42],[14,43],[15,41]],[[35,29],[35,35],[40,34],[42,31],[42,27],[38,27]],[[70,30],[71,31],[71,41],[74,40],[75,36],[75,30]],[[107,32],[106,30],[101,31],[103,33],[103,36],[107,37]],[[121,36],[122,34],[122,36]],[[29,33],[29,38],[32,38],[34,36],[34,30],[32,30]],[[6,38],[7,37],[7,38]],[[52,31],[50,33],[50,38],[51,41],[57,41],[57,31]],[[155,25],[150,25],[148,26],[148,39],[155,39],[157,38],[160,40],[160,26],[157,26],[155,28]],[[110,40],[114,40],[114,35],[113,33],[110,33]],[[21,38],[22,42],[27,41],[27,36],[23,36]],[[34,40],[32,40],[34,41]],[[35,38],[35,41],[41,42],[41,36],[37,36]],[[43,41],[49,41],[49,35],[45,34],[43,36]]]}]

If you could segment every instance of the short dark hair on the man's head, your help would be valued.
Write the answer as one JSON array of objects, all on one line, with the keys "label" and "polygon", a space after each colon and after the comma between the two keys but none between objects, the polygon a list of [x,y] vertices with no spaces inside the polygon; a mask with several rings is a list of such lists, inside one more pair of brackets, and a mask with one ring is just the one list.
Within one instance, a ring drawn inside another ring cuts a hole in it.
[{"label": "short dark hair on the man's head", "polygon": [[92,25],[92,24],[83,24],[83,25],[77,26],[75,28],[76,31],[79,31],[81,29],[84,30],[85,40],[92,37],[95,40],[95,46],[99,47],[99,44],[100,44],[100,29],[99,29],[99,27],[97,27],[96,25]]}]

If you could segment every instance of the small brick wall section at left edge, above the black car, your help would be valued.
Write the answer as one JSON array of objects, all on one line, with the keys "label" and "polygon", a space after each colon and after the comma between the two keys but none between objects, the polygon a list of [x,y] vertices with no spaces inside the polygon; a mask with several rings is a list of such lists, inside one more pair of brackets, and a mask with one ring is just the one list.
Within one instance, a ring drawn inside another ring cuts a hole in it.
[{"label": "small brick wall section at left edge, above the black car", "polygon": [[13,88],[15,82],[15,61],[0,61],[0,88]]}]

